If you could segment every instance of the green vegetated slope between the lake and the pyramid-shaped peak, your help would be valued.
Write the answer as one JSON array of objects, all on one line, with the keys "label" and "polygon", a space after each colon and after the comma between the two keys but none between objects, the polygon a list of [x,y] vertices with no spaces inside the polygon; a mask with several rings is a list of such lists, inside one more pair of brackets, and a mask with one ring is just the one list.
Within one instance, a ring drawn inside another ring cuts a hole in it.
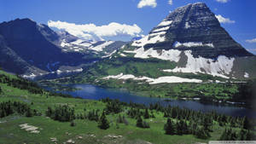
[{"label": "green vegetated slope between the lake and the pyramid-shaped peak", "polygon": [[[161,71],[161,69],[172,69],[174,66],[176,66],[174,62],[166,60],[117,57],[115,59],[97,62],[94,66],[87,67],[78,76],[44,81],[42,84],[57,88],[60,84],[96,84],[105,88],[128,89],[137,95],[150,97],[200,100],[202,102],[215,103],[238,102],[239,105],[243,104],[242,106],[253,106],[252,100],[255,100],[255,96],[253,96],[252,89],[256,80],[249,80],[247,83],[232,83],[234,79],[230,79],[225,83],[214,83],[214,81],[226,81],[226,79],[204,74],[195,75],[192,73]],[[181,78],[198,78],[204,82],[201,84],[148,84],[143,80],[102,79],[103,77],[118,75],[122,72],[124,74],[132,74],[136,77],[146,76],[148,78],[158,78],[160,76],[177,76]],[[209,82],[209,79],[213,83]]]}]

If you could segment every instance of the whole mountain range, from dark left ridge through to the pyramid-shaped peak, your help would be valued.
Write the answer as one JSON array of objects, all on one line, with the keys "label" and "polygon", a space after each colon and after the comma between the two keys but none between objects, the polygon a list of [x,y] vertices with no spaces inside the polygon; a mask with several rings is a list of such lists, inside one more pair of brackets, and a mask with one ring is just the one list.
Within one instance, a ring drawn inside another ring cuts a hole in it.
[{"label": "whole mountain range, from dark left ridge through to the pyramid-shaped peak", "polygon": [[84,41],[29,19],[12,20],[0,24],[0,48],[0,66],[24,76],[83,67],[78,78],[94,73],[95,79],[149,84],[256,78],[256,57],[230,37],[205,3],[174,10],[131,43]]}]

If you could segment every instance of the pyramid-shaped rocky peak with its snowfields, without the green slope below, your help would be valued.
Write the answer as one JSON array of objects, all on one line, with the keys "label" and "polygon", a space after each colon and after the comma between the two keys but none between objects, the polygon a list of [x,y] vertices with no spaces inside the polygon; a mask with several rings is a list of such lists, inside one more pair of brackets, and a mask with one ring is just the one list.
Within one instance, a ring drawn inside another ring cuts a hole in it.
[{"label": "pyramid-shaped rocky peak with its snowfields, without the green slope below", "polygon": [[230,37],[205,3],[178,8],[147,36],[127,44],[120,57],[169,60],[162,72],[256,78],[256,58]]}]

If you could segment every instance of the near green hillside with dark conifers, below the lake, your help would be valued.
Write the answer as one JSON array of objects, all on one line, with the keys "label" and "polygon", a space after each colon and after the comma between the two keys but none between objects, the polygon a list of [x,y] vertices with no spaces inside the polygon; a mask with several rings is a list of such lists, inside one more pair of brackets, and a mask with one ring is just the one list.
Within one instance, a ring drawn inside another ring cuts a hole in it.
[{"label": "near green hillside with dark conifers, below the lake", "polygon": [[[37,86],[20,89],[23,88],[21,85],[26,85],[20,83],[15,88],[12,81],[25,80],[1,73],[9,81],[0,83],[0,111],[9,114],[0,118],[0,143],[50,143],[53,141],[50,138],[56,138],[58,143],[68,140],[76,143],[195,143],[218,140],[226,129],[231,129],[236,135],[246,131],[244,137],[254,139],[253,130],[248,130],[254,127],[253,119],[161,107],[158,104],[145,107],[109,99],[74,99],[44,89],[41,89],[42,93],[34,94],[29,89],[36,89]],[[22,124],[35,126],[39,132],[21,129]]]}]

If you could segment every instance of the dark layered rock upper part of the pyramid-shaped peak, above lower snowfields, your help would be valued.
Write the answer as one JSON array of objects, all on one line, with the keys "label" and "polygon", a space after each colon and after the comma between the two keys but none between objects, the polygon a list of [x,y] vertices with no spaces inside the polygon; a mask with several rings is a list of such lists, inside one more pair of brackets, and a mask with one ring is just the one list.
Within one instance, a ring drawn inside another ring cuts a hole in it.
[{"label": "dark layered rock upper part of the pyramid-shaped peak, above lower snowfields", "polygon": [[230,37],[220,26],[215,14],[205,3],[193,3],[178,8],[149,32],[144,44],[134,46],[144,49],[192,50],[195,57],[217,58],[252,56]]}]

